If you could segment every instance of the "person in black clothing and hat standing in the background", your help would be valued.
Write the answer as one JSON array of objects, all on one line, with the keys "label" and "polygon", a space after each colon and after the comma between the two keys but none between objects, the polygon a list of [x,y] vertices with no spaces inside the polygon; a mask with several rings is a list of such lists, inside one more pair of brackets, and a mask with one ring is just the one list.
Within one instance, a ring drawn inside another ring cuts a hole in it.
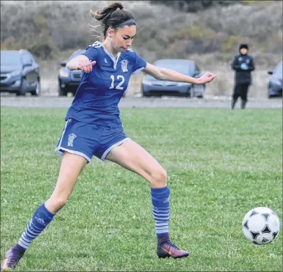
[{"label": "person in black clothing and hat standing in the background", "polygon": [[247,55],[248,50],[249,46],[242,43],[239,48],[240,55],[235,56],[232,63],[232,69],[235,70],[232,110],[239,96],[242,99],[241,108],[244,109],[247,105],[247,93],[251,85],[251,71],[254,71],[254,59]]}]

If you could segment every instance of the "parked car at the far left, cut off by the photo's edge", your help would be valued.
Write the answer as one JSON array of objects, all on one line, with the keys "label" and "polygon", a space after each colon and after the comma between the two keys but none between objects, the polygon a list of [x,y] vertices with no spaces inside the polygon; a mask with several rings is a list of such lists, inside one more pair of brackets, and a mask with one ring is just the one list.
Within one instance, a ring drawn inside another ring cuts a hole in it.
[{"label": "parked car at the far left, cut off by the photo's edge", "polygon": [[1,92],[40,94],[39,64],[28,50],[1,50]]}]

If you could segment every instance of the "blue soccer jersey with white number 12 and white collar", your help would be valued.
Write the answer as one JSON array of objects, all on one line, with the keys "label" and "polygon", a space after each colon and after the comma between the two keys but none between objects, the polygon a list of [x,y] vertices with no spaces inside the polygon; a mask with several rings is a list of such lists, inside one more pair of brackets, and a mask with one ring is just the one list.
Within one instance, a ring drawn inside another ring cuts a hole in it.
[{"label": "blue soccer jersey with white number 12 and white collar", "polygon": [[98,41],[89,45],[82,54],[96,61],[90,73],[82,71],[74,101],[65,120],[74,120],[116,127],[120,125],[118,103],[132,73],[146,67],[146,61],[133,50],[113,55]]}]

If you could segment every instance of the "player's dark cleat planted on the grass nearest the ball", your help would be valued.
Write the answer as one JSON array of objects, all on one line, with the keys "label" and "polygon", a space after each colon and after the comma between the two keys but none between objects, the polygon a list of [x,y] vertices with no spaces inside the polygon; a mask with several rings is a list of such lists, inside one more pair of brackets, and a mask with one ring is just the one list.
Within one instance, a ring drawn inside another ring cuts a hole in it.
[{"label": "player's dark cleat planted on the grass nearest the ball", "polygon": [[163,241],[160,239],[157,244],[157,255],[159,258],[173,257],[184,258],[187,257],[190,252],[185,250],[180,250],[176,245],[174,245],[169,239]]}]

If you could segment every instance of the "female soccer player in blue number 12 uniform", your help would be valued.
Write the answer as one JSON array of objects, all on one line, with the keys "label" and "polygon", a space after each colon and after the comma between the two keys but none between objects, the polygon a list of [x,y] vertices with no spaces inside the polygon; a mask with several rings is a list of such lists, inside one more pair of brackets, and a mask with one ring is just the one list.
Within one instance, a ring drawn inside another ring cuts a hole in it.
[{"label": "female soccer player in blue number 12 uniform", "polygon": [[102,161],[115,162],[150,183],[158,257],[181,258],[189,254],[170,241],[167,173],[144,148],[125,135],[118,102],[127,89],[130,76],[137,71],[142,70],[158,80],[193,84],[209,83],[216,75],[205,73],[200,78],[191,78],[144,61],[130,49],[136,23],[132,13],[121,3],[111,3],[91,15],[100,22],[104,41],[89,45],[85,53],[67,63],[70,70],[81,69],[82,78],[55,148],[62,155],[57,185],[50,198],[37,208],[18,243],[6,253],[2,270],[15,268],[34,238],[67,203],[79,174],[93,155]]}]

